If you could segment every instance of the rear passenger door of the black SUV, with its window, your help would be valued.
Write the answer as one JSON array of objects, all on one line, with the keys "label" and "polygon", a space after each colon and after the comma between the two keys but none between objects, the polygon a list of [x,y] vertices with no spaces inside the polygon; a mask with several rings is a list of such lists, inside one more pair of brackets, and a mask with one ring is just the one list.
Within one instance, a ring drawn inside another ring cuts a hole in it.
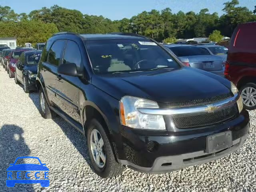
[{"label": "rear passenger door of the black SUV, with its window", "polygon": [[57,94],[56,86],[58,84],[56,76],[58,75],[57,68],[59,64],[62,63],[62,55],[63,55],[65,43],[66,43],[66,40],[64,39],[56,40],[52,44],[48,52],[46,62],[43,63],[43,68],[41,73],[44,79],[46,92],[51,105],[56,104],[56,102],[58,101],[56,100],[56,94]]}]

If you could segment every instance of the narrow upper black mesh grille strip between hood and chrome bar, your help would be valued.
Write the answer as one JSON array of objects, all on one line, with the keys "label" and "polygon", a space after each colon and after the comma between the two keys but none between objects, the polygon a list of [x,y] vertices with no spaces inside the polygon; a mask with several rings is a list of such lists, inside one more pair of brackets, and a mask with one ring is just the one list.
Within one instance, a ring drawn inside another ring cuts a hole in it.
[{"label": "narrow upper black mesh grille strip between hood and chrome bar", "polygon": [[231,93],[221,94],[214,97],[208,97],[204,99],[194,99],[194,100],[185,100],[180,102],[168,102],[164,104],[160,104],[161,107],[167,107],[167,108],[174,108],[174,107],[191,107],[191,106],[200,106],[200,105],[207,105],[216,103],[221,100],[225,100],[227,98],[232,97]]}]

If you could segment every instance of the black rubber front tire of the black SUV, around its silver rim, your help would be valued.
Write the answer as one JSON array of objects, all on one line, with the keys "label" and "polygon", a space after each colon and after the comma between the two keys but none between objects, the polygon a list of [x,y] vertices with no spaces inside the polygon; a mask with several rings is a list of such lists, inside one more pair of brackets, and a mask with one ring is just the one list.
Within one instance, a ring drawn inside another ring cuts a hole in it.
[{"label": "black rubber front tire of the black SUV, around its silver rim", "polygon": [[[106,163],[104,165],[103,168],[100,168],[92,155],[92,150],[91,150],[91,144],[90,144],[90,135],[92,133],[92,130],[98,130],[98,132],[100,133],[100,135],[102,136],[102,139],[104,141],[104,147],[105,147],[105,153],[106,153]],[[90,160],[92,163],[92,166],[94,168],[94,172],[96,174],[98,174],[100,177],[102,178],[111,178],[111,177],[115,177],[118,176],[119,174],[121,174],[125,167],[121,164],[119,164],[118,162],[116,162],[111,144],[108,140],[108,136],[106,135],[106,132],[102,126],[102,124],[100,122],[98,122],[98,120],[96,119],[92,119],[90,122],[90,125],[88,126],[87,129],[87,146],[88,146],[88,152],[90,154]]]}]

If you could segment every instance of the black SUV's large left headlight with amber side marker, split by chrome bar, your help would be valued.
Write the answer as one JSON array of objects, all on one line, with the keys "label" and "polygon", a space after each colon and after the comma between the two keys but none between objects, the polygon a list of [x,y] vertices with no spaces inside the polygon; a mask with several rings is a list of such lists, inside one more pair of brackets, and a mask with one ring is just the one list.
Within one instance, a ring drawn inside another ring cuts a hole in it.
[{"label": "black SUV's large left headlight with amber side marker, split by chrome bar", "polygon": [[159,108],[154,101],[124,96],[120,100],[119,112],[121,124],[147,130],[165,130],[165,122],[162,115],[149,115],[140,113],[137,108]]}]

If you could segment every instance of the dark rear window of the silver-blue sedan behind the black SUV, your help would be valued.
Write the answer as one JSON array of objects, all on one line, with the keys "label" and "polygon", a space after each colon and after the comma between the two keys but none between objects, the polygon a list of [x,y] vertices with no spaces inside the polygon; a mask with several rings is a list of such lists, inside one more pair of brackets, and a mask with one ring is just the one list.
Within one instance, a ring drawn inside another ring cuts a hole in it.
[{"label": "dark rear window of the silver-blue sedan behind the black SUV", "polygon": [[195,56],[195,55],[210,55],[208,51],[200,49],[196,46],[176,46],[169,47],[172,52],[178,57]]}]

